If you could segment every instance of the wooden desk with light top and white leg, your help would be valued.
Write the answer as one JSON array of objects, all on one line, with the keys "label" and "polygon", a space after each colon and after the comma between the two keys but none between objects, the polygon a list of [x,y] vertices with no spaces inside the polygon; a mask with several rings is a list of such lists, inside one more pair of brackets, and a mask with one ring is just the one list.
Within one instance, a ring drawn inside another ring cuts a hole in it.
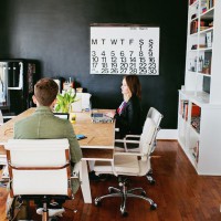
[{"label": "wooden desk with light top and white leg", "polygon": [[[0,145],[13,138],[13,125],[15,122],[31,115],[35,108],[30,108],[17,117],[10,119],[0,127]],[[98,110],[98,112],[104,112]],[[76,113],[76,123],[73,124],[75,134],[83,134],[87,138],[80,140],[83,158],[80,171],[81,188],[85,203],[92,203],[87,161],[113,160],[115,124],[94,124],[90,113]]]}]

